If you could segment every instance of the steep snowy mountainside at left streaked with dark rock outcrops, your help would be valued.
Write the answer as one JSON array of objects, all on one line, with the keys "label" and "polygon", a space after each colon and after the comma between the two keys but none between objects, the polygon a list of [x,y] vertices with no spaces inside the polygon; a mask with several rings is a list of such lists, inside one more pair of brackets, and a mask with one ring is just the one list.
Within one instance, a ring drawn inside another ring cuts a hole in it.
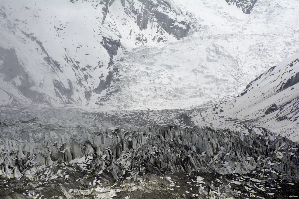
[{"label": "steep snowy mountainside at left streaked with dark rock outcrops", "polygon": [[[172,2],[1,1],[0,104],[89,104],[124,49],[175,41],[189,25]],[[93,103],[94,104],[94,103]]]}]

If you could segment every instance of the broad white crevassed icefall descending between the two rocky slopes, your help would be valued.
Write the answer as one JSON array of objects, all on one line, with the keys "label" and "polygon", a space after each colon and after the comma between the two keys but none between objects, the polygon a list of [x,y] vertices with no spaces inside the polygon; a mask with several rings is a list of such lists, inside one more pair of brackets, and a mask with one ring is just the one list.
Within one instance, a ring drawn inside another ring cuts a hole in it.
[{"label": "broad white crevassed icefall descending between the two rocky slopes", "polygon": [[225,1],[176,1],[192,28],[175,42],[115,59],[100,106],[165,109],[208,106],[238,95],[269,67],[298,53],[297,1],[257,1],[250,14]]}]

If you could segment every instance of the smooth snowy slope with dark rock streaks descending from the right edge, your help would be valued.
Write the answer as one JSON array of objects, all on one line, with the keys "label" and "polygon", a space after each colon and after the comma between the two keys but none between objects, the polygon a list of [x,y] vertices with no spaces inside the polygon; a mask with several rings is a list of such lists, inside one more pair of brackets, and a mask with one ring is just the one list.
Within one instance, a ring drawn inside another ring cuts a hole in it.
[{"label": "smooth snowy slope with dark rock streaks descending from the right edge", "polygon": [[[251,81],[235,99],[217,104],[193,120],[198,126],[234,130],[269,129],[299,141],[299,53]],[[245,124],[245,125],[244,125]]]}]

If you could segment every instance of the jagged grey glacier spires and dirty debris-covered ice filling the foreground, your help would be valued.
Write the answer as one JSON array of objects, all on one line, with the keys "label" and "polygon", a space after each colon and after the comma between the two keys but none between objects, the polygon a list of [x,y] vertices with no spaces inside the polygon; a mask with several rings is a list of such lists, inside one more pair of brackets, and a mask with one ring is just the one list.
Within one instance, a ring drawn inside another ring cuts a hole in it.
[{"label": "jagged grey glacier spires and dirty debris-covered ice filling the foreground", "polygon": [[269,198],[298,186],[299,146],[269,133],[55,118],[1,122],[2,197]]}]

